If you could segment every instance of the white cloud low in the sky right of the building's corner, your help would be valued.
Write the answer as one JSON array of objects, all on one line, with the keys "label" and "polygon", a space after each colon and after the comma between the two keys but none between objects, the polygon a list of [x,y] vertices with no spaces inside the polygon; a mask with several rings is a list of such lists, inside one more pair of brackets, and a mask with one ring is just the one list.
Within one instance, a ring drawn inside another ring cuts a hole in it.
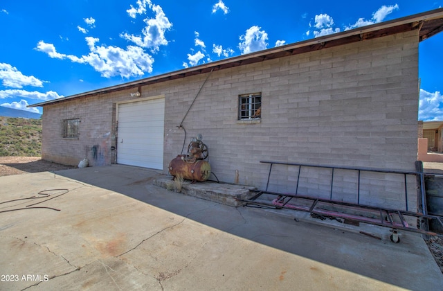
[{"label": "white cloud low in the sky right of the building's corner", "polygon": [[443,96],[440,91],[420,89],[418,119],[420,121],[443,121]]}]

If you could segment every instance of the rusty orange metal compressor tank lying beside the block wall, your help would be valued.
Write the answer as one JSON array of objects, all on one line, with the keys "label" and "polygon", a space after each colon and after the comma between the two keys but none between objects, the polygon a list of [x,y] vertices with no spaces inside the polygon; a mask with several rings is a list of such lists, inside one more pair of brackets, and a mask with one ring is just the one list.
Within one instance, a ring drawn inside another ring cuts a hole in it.
[{"label": "rusty orange metal compressor tank lying beside the block wall", "polygon": [[209,179],[210,164],[201,159],[188,160],[185,155],[178,155],[170,161],[169,173],[174,177],[181,175],[185,179],[192,180],[192,182],[203,182]]}]

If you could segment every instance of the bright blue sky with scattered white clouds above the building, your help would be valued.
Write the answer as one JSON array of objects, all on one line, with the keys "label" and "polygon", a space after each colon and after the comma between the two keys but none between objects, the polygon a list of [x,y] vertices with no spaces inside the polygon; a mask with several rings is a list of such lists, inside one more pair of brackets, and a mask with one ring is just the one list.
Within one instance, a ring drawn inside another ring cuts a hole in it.
[{"label": "bright blue sky with scattered white clouds above the building", "polygon": [[[442,6],[443,0],[3,0],[0,106],[42,113],[26,106]],[[442,46],[443,33],[420,44],[419,120],[443,120]]]}]

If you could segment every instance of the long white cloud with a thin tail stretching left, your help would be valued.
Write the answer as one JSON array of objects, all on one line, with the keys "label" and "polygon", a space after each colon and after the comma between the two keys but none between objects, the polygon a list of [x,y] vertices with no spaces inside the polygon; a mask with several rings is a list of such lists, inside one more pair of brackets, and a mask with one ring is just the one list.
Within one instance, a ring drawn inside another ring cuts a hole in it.
[{"label": "long white cloud with a thin tail stretching left", "polygon": [[126,49],[117,46],[97,46],[98,38],[86,37],[89,50],[88,55],[80,57],[76,55],[65,55],[57,53],[53,44],[46,44],[40,41],[37,44],[37,51],[47,53],[51,58],[69,59],[71,62],[89,64],[102,77],[110,78],[120,75],[122,78],[131,76],[143,76],[144,72],[152,72],[154,59],[138,46],[127,46]]}]

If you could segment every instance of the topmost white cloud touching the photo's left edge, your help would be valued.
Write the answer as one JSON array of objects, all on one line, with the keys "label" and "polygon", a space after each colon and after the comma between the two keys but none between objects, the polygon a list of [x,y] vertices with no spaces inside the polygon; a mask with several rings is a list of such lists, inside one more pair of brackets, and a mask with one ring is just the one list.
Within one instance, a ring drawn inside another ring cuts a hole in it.
[{"label": "topmost white cloud touching the photo's left edge", "polygon": [[0,80],[2,80],[3,86],[11,88],[23,88],[23,86],[43,87],[44,82],[34,76],[25,76],[16,67],[6,63],[0,63]]}]

